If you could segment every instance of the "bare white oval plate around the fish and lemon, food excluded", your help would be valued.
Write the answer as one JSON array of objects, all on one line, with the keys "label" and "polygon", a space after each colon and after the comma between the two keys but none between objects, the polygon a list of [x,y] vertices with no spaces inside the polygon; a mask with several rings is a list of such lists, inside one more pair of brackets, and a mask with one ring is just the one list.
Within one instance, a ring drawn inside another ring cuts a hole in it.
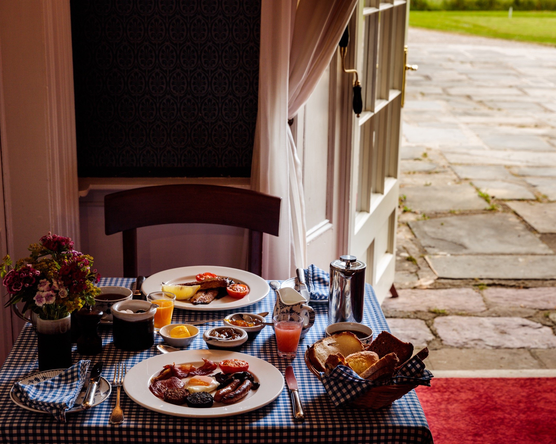
[{"label": "bare white oval plate around the fish and lemon, food excluded", "polygon": [[212,310],[234,310],[246,307],[247,305],[259,302],[269,294],[270,287],[267,282],[256,274],[249,271],[238,270],[236,268],[216,267],[216,266],[192,266],[172,268],[160,271],[145,279],[141,286],[143,294],[148,295],[153,291],[162,289],[162,282],[165,284],[184,284],[185,282],[195,281],[195,276],[199,273],[214,273],[224,278],[233,279],[234,282],[245,284],[249,287],[249,293],[241,299],[231,296],[224,296],[222,299],[215,299],[210,304],[193,305],[188,301],[176,300],[175,306],[178,309],[212,311]]}]

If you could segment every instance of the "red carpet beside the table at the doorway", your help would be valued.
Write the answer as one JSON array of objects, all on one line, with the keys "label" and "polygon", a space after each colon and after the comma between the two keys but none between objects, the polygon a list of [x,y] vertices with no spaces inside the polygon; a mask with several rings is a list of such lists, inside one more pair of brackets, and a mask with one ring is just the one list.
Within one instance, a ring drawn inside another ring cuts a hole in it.
[{"label": "red carpet beside the table at the doorway", "polygon": [[435,444],[555,444],[556,378],[434,378],[416,392]]}]

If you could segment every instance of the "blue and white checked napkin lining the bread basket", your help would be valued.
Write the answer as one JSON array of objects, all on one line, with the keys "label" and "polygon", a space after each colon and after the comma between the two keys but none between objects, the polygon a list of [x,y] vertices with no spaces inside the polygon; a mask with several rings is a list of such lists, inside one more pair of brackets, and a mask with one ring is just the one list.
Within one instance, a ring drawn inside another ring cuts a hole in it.
[{"label": "blue and white checked napkin lining the bread basket", "polygon": [[425,370],[425,364],[417,356],[407,361],[398,373],[390,379],[368,381],[356,374],[349,367],[337,366],[327,375],[321,372],[321,382],[326,393],[336,407],[341,407],[354,401],[372,387],[397,384],[426,385],[430,387],[433,374]]}]

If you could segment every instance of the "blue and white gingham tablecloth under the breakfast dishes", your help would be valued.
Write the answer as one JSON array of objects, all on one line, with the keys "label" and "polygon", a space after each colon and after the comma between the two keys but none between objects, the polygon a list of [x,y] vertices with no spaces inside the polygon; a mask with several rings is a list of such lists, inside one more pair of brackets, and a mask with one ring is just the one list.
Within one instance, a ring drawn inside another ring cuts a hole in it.
[{"label": "blue and white gingham tablecloth under the breakfast dishes", "polygon": [[[100,285],[121,285],[131,289],[135,279],[102,278]],[[272,313],[275,295],[270,294],[262,301],[249,307],[249,311]],[[116,396],[90,410],[70,413],[67,423],[54,420],[52,415],[33,413],[17,407],[9,398],[14,382],[25,375],[38,371],[36,334],[26,324],[0,369],[0,442],[29,443],[73,443],[117,440],[123,442],[175,442],[186,443],[244,443],[244,442],[380,442],[406,443],[432,442],[431,433],[415,391],[395,401],[390,408],[362,410],[359,408],[336,408],[324,387],[305,366],[304,352],[307,345],[321,339],[327,324],[327,306],[318,304],[315,325],[300,342],[297,357],[291,362],[300,386],[300,395],[305,407],[306,420],[292,418],[289,392],[286,389],[269,405],[243,415],[224,418],[197,420],[162,415],[147,410],[131,401],[122,390],[121,406],[126,420],[122,425],[111,425],[108,418],[115,405]],[[176,309],[173,322],[207,319],[207,316],[227,315],[228,311],[207,312]],[[268,318],[270,319],[270,317]],[[380,305],[370,285],[365,290],[364,324],[369,325],[375,337],[389,330]],[[213,324],[208,324],[209,326]],[[206,326],[201,326],[201,330]],[[105,361],[103,376],[111,381],[116,362],[125,361],[128,369],[148,357],[158,354],[156,344],[162,343],[157,336],[155,346],[140,352],[126,352],[112,345],[112,330],[100,329],[104,349],[97,356],[82,356],[73,351],[73,362],[91,359]],[[276,342],[271,328],[265,328],[252,342],[246,342],[240,350],[254,355],[276,366],[282,374],[290,360],[280,359],[276,354]],[[190,349],[206,349],[199,335]],[[168,355],[170,362],[171,357]],[[115,391],[113,391],[115,393]]]}]

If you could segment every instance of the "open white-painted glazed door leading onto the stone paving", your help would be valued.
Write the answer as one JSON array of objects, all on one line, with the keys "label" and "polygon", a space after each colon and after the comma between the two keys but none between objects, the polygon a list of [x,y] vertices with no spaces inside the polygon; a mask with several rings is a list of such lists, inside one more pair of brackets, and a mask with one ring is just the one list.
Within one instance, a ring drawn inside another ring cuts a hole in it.
[{"label": "open white-painted glazed door leading onto the stone paving", "polygon": [[[379,301],[395,274],[399,195],[401,89],[405,0],[360,0],[349,23],[346,67],[363,84],[363,113],[345,112],[345,233],[350,254],[367,263],[366,280]],[[351,85],[351,76],[344,88]],[[345,103],[345,101],[344,101]],[[351,109],[351,103],[347,103]],[[344,108],[345,109],[345,108]]]}]

